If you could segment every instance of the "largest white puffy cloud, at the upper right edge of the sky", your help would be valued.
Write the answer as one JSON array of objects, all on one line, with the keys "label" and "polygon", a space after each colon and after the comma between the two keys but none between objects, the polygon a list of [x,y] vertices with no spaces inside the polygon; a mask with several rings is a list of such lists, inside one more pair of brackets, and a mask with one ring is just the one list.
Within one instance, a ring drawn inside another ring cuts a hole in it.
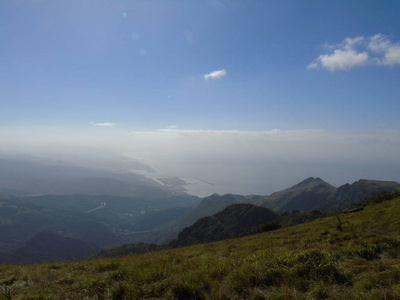
[{"label": "largest white puffy cloud, at the upper right edge of the sky", "polygon": [[400,44],[383,34],[346,38],[338,45],[326,45],[329,52],[318,56],[307,69],[349,70],[365,65],[400,64]]}]

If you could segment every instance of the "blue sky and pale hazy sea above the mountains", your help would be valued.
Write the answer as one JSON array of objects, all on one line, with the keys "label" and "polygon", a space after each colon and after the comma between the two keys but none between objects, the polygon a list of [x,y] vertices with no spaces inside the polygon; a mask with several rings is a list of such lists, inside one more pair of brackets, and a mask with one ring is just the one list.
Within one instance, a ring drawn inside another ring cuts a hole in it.
[{"label": "blue sky and pale hazy sea above the mountains", "polygon": [[399,14],[397,0],[3,0],[1,148],[113,151],[219,193],[400,181]]}]

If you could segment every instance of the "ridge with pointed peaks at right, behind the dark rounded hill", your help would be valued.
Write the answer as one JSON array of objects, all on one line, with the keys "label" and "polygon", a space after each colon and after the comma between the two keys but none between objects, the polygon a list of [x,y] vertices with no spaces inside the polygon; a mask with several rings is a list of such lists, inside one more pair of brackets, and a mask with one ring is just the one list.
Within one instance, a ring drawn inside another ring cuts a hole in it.
[{"label": "ridge with pointed peaks at right, behind the dark rounded hill", "polygon": [[[234,194],[214,194],[203,198],[201,203],[185,215],[166,223],[158,229],[133,236],[132,242],[165,243],[175,239],[183,228],[192,225],[198,219],[211,216],[232,204],[246,203],[262,206],[279,212],[286,211],[334,211],[368,197],[381,190],[400,190],[400,184],[394,181],[361,179],[353,184],[339,188],[320,178],[310,177],[300,183],[273,193],[269,196],[242,196]],[[291,221],[288,221],[291,222]]]}]

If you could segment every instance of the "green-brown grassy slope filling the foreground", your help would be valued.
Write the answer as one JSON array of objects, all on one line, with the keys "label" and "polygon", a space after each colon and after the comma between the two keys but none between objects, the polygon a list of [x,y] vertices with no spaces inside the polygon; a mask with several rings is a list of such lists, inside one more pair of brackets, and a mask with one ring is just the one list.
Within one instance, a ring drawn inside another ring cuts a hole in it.
[{"label": "green-brown grassy slope filling the foreground", "polygon": [[399,299],[399,215],[397,198],[341,215],[343,231],[329,217],[144,255],[2,265],[0,299]]}]

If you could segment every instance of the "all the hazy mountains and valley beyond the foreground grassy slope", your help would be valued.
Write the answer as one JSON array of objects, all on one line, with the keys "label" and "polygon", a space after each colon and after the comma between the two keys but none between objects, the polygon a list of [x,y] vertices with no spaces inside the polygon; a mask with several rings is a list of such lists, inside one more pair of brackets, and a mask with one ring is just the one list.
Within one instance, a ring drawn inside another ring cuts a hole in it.
[{"label": "all the hazy mountains and valley beyond the foreground grassy slope", "polygon": [[130,244],[124,253],[141,253],[160,244],[240,237],[265,223],[298,224],[395,189],[400,184],[392,181],[362,179],[336,188],[310,177],[267,196],[201,199],[136,174],[0,159],[0,262],[65,260],[123,244]]}]

